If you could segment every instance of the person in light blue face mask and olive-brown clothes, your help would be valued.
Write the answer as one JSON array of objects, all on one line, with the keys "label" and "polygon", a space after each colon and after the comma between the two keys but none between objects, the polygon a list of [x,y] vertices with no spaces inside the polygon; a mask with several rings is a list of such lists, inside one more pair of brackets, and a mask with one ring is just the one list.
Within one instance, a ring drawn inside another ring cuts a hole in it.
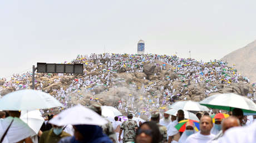
[{"label": "person in light blue face mask and olive-brown clothes", "polygon": [[56,126],[52,125],[52,129],[48,131],[44,131],[43,134],[40,137],[40,143],[57,143],[60,141],[63,137],[71,136],[67,132],[63,131],[62,126]]}]

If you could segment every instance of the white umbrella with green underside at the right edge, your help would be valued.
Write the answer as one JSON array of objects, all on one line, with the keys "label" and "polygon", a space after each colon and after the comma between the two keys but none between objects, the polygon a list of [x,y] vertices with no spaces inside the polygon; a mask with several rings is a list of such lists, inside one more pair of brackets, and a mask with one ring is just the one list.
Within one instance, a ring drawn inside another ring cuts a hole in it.
[{"label": "white umbrella with green underside at the right edge", "polygon": [[240,108],[245,113],[256,113],[256,104],[252,100],[234,93],[215,94],[199,103],[213,109],[232,111],[234,108]]}]

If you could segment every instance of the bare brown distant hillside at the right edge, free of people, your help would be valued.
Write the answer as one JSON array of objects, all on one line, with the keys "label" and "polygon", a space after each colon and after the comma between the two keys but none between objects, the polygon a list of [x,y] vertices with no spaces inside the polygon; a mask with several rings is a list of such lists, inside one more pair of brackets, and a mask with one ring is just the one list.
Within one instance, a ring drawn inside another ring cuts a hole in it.
[{"label": "bare brown distant hillside at the right edge, free of people", "polygon": [[242,75],[249,78],[250,83],[256,82],[256,40],[243,48],[225,55],[221,60],[235,66]]}]

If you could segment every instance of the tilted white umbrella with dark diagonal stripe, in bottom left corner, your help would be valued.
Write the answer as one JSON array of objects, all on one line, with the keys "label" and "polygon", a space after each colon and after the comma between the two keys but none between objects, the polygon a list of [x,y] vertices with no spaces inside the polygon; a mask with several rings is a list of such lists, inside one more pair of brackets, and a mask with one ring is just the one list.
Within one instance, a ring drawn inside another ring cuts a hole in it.
[{"label": "tilted white umbrella with dark diagonal stripe, in bottom left corner", "polygon": [[[4,120],[0,120],[0,138],[11,124],[13,117],[9,116]],[[14,118],[3,142],[18,142],[27,137],[35,135],[35,132],[21,119]]]}]

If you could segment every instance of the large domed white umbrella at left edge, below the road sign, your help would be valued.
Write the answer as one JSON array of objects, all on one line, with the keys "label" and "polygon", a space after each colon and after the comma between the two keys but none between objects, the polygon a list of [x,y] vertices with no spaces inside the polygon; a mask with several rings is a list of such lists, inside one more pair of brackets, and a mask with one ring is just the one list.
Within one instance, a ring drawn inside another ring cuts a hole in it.
[{"label": "large domed white umbrella at left edge, below the road sign", "polygon": [[37,110],[62,106],[62,104],[50,94],[42,91],[23,89],[14,91],[0,98],[1,110]]}]

